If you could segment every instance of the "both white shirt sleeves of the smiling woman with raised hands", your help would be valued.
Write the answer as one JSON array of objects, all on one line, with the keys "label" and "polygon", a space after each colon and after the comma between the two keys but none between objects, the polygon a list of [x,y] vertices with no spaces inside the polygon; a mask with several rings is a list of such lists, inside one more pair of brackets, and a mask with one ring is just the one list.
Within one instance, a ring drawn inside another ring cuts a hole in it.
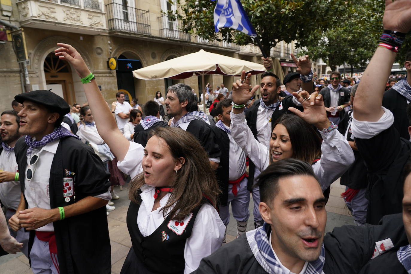
[{"label": "both white shirt sleeves of the smiling woman with raised hands", "polygon": [[[247,126],[244,113],[235,114],[231,111],[230,117],[234,140],[255,164],[256,171],[265,170],[270,164],[270,148],[254,138]],[[324,191],[351,166],[354,162],[354,153],[348,141],[336,129],[330,133],[319,132],[323,138],[322,154],[321,159],[312,168]]]}]

